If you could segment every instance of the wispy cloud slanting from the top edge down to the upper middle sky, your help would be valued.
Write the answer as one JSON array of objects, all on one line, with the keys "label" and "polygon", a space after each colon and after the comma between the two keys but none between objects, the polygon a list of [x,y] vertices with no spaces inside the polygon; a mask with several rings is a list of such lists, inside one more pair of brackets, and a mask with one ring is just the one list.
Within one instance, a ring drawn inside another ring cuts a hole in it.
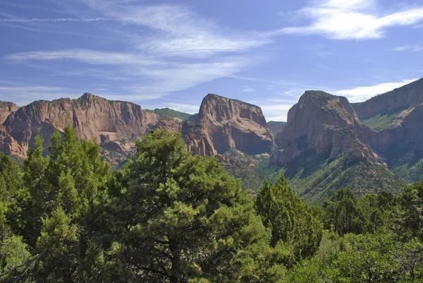
[{"label": "wispy cloud slanting from the top edge down to the upper middle sky", "polygon": [[135,36],[134,40],[135,47],[149,53],[204,58],[218,53],[242,52],[270,42],[269,38],[259,34],[245,35],[225,30],[185,6],[126,6],[99,0],[86,2],[107,18],[154,30],[154,38],[146,41],[144,36],[142,40]]}]

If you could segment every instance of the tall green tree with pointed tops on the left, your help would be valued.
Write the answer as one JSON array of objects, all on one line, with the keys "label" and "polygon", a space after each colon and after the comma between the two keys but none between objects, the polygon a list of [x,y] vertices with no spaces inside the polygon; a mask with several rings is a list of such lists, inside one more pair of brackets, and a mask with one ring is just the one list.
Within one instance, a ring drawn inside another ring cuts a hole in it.
[{"label": "tall green tree with pointed tops on the left", "polygon": [[104,257],[109,166],[98,144],[80,141],[68,126],[51,136],[48,157],[42,144],[38,135],[23,162],[16,232],[38,256],[35,282],[92,282]]}]

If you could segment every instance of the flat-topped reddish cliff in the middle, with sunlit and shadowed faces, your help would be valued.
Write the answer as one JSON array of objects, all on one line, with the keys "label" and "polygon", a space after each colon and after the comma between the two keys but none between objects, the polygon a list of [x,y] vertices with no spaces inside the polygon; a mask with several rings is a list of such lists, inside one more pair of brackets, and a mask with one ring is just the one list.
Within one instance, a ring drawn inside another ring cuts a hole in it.
[{"label": "flat-topped reddish cliff in the middle, with sunlit and shadowed faces", "polygon": [[231,148],[256,155],[270,152],[275,145],[262,109],[211,94],[204,97],[200,112],[183,124],[183,138],[188,150],[200,155]]}]

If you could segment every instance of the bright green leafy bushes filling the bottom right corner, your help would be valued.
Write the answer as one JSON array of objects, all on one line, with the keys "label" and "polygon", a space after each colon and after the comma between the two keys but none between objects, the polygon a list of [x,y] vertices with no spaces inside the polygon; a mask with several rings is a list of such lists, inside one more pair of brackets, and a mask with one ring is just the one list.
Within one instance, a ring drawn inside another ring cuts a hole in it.
[{"label": "bright green leafy bushes filling the bottom right corner", "polygon": [[389,235],[353,235],[331,241],[333,248],[296,265],[289,282],[422,282],[423,246]]}]

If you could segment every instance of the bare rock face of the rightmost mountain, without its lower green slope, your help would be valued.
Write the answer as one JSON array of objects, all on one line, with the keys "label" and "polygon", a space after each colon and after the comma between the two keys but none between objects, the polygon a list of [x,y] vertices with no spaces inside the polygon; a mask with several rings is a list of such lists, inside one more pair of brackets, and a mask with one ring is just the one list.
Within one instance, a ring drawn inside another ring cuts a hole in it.
[{"label": "bare rock face of the rightmost mountain, without its lower green slope", "polygon": [[419,157],[423,151],[423,78],[366,102],[352,104],[359,119],[391,115],[391,123],[381,131],[362,126],[360,139],[386,159],[399,165]]}]

